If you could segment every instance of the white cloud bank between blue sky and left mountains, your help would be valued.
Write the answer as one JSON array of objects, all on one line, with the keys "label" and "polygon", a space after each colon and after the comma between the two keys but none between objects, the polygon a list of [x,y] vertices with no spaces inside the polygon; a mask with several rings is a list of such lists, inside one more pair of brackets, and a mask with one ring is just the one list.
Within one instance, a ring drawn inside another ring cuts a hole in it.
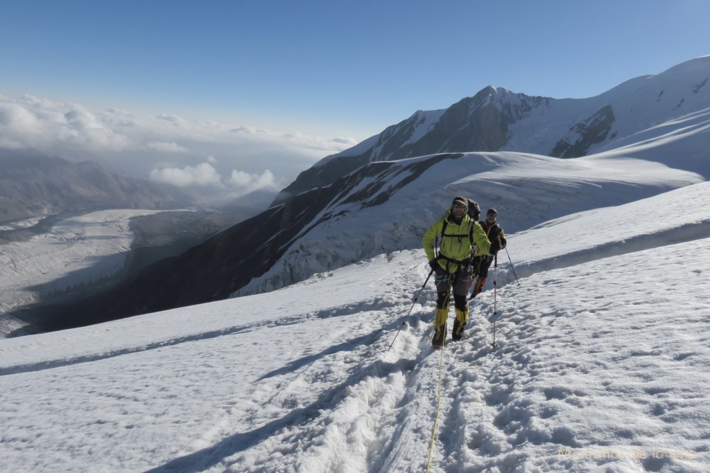
[{"label": "white cloud bank between blue sky and left mountains", "polygon": [[351,138],[0,95],[0,148],[95,160],[131,177],[190,187],[216,202],[257,190],[275,193],[317,160],[355,144]]}]

